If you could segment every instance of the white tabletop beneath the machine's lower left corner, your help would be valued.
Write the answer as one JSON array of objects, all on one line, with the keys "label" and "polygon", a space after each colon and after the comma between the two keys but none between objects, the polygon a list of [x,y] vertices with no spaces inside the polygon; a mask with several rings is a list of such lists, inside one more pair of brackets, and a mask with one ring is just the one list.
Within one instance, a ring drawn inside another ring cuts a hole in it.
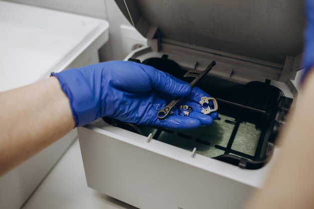
[{"label": "white tabletop beneath the machine's lower left corner", "polygon": [[22,208],[136,209],[87,186],[78,140],[75,140]]}]

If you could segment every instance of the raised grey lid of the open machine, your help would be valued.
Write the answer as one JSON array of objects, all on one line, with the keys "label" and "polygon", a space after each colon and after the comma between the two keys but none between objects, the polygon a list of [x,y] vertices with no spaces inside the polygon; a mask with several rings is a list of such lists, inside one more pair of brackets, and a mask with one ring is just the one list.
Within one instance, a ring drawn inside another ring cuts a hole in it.
[{"label": "raised grey lid of the open machine", "polygon": [[301,0],[115,0],[146,38],[189,43],[284,64],[302,53],[305,18]]}]

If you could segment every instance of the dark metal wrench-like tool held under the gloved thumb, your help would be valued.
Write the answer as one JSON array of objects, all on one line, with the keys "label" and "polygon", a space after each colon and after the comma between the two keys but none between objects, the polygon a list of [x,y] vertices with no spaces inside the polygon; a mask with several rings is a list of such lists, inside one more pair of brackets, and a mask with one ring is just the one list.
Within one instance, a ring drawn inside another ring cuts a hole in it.
[{"label": "dark metal wrench-like tool held under the gloved thumb", "polygon": [[[216,62],[213,61],[211,64],[207,66],[207,68],[204,71],[197,71],[197,70],[189,70],[183,77],[194,77],[194,80],[190,83],[190,86],[193,87],[195,84],[200,81],[206,74],[216,65]],[[181,100],[182,97],[177,97],[176,99],[172,100],[169,105],[161,109],[157,113],[157,117],[160,120],[166,119],[168,114],[171,112],[172,108],[178,104],[178,102]]]}]

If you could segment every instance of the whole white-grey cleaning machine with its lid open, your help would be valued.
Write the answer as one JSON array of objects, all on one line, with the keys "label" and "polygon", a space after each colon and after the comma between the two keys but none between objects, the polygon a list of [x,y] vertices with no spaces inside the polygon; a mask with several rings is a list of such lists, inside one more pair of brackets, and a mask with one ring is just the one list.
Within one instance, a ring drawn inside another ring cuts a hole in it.
[{"label": "whole white-grey cleaning machine with its lid open", "polygon": [[217,99],[209,127],[176,130],[101,118],[78,128],[88,186],[139,208],[241,208],[260,188],[297,98],[302,1],[122,1],[147,47],[126,61],[184,80]]}]

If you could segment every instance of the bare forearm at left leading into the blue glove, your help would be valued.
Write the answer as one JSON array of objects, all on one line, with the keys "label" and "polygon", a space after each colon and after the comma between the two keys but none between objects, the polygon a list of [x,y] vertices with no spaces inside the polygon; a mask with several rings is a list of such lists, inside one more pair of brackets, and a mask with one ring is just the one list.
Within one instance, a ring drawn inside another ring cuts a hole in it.
[{"label": "bare forearm at left leading into the blue glove", "polygon": [[69,100],[55,77],[0,93],[0,175],[74,127]]}]

